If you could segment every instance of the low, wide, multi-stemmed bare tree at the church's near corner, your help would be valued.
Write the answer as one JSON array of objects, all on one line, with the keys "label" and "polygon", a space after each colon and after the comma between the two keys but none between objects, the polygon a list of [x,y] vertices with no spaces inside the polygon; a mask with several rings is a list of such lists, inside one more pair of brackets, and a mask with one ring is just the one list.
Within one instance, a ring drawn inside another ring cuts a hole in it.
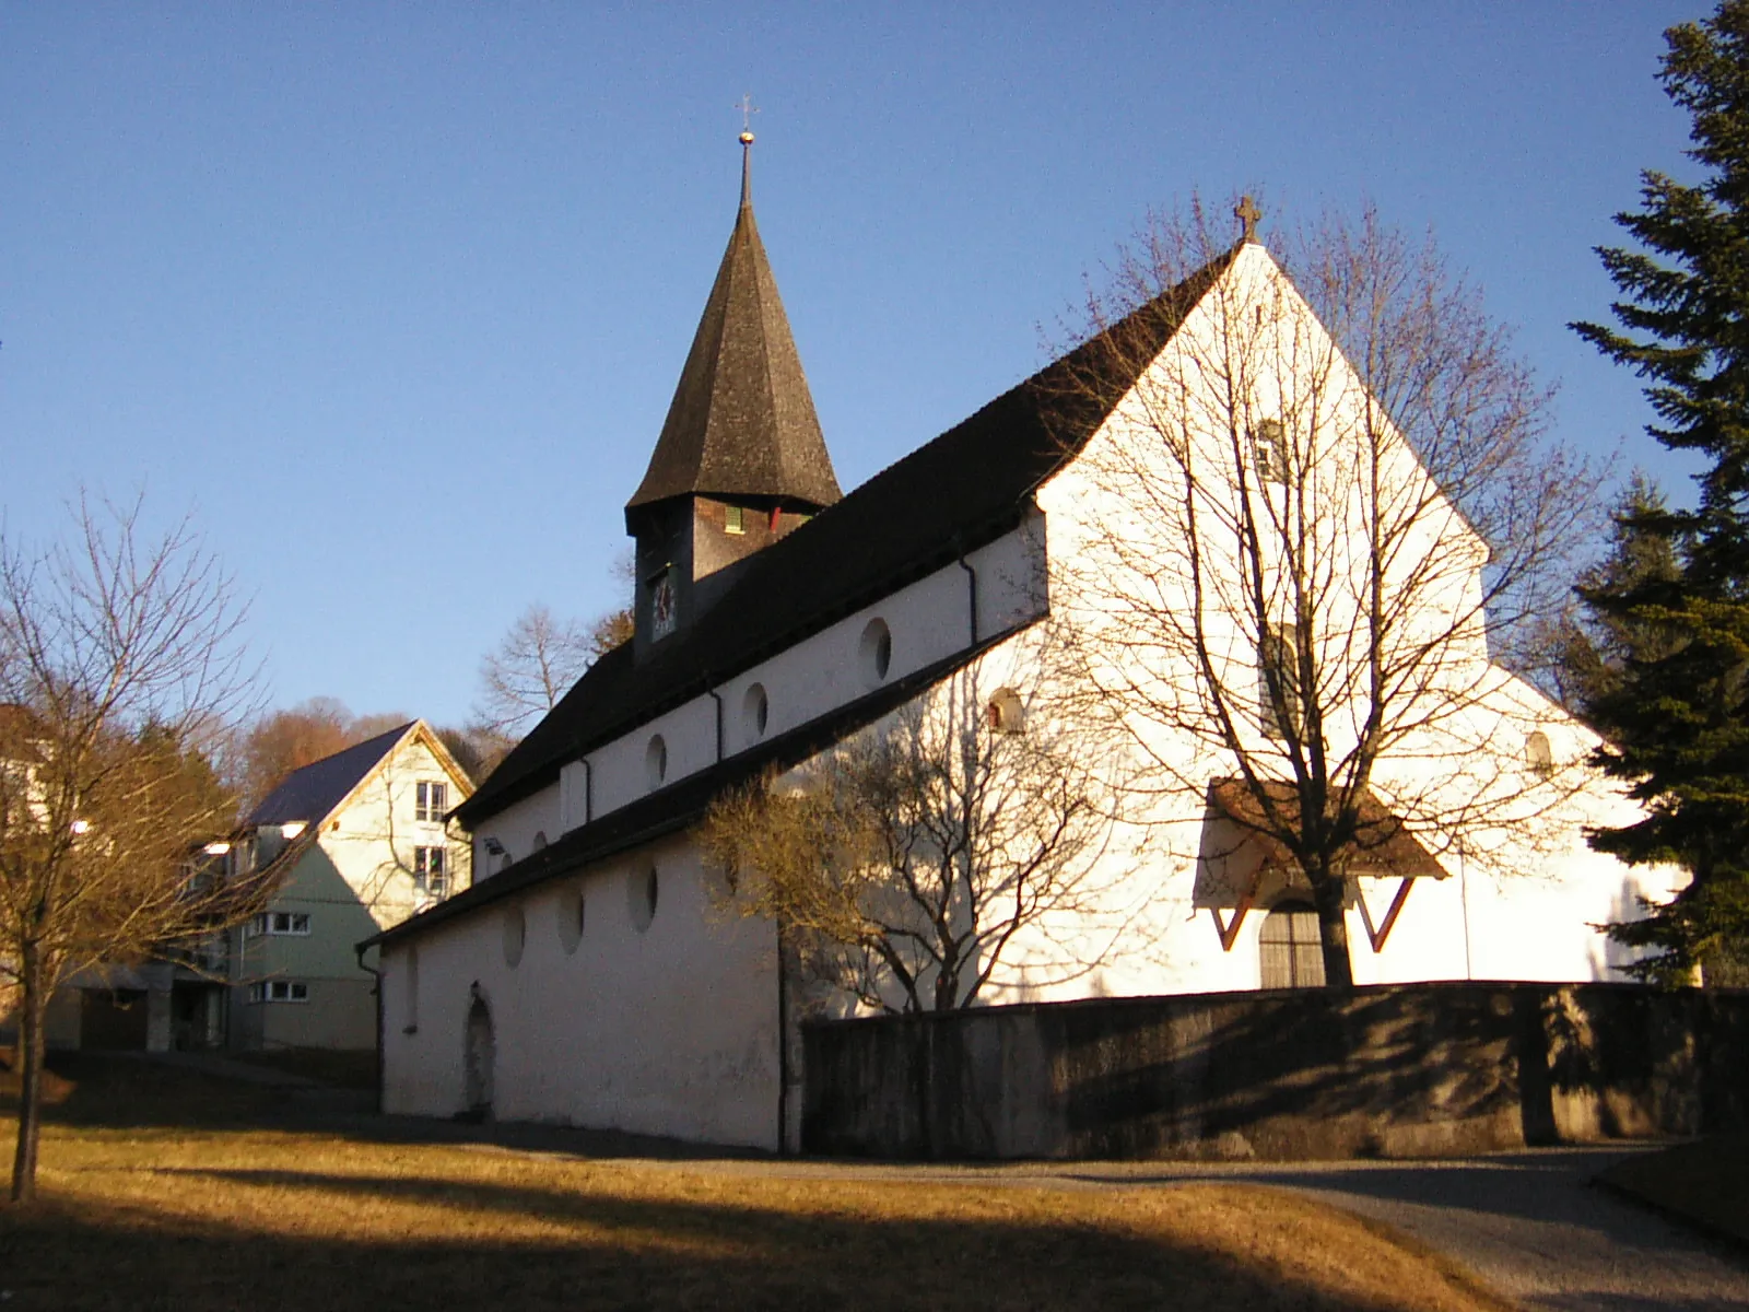
[{"label": "low, wide, multi-stemmed bare tree at the church's near corner", "polygon": [[[953,675],[701,826],[724,901],[775,920],[801,976],[885,1011],[969,1006],[1016,936],[1088,938],[1111,792],[1084,735],[1013,689]],[[1097,917],[1095,917],[1097,918]],[[1070,955],[1056,978],[1088,967]]]}]

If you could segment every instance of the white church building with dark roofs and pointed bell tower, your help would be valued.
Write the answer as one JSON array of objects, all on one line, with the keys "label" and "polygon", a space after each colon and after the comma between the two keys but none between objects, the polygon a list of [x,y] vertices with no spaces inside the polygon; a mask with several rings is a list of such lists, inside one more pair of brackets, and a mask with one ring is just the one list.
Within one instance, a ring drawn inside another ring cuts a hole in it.
[{"label": "white church building with dark roofs and pointed bell tower", "polygon": [[[796,1146],[801,1072],[784,1036],[798,995],[777,927],[724,911],[696,826],[726,789],[794,771],[951,679],[986,687],[1002,728],[997,693],[1034,686],[1053,626],[1111,632],[1123,597],[1088,591],[1121,574],[1105,560],[1111,525],[1130,527],[1116,535],[1132,551],[1172,530],[1144,502],[1146,465],[1112,457],[1126,432],[1133,439],[1147,388],[1188,376],[1188,353],[1230,331],[1235,308],[1259,325],[1268,308],[1327,343],[1252,222],[1149,313],[845,493],[743,154],[728,250],[626,502],[635,635],[456,808],[472,833],[472,887],[367,941],[380,948],[385,1111]],[[1340,352],[1327,359],[1347,369]],[[1343,404],[1376,409],[1341,381]],[[1263,411],[1293,409],[1286,373],[1251,387]],[[1245,495],[1275,495],[1270,467],[1289,458],[1294,423],[1263,418],[1249,432],[1263,492]],[[1153,458],[1147,443],[1132,450]],[[1392,460],[1425,481],[1404,443]],[[1460,609],[1478,593],[1487,548],[1455,509],[1434,509],[1417,532],[1429,553],[1455,542],[1464,565],[1448,586]],[[1151,551],[1165,560],[1172,546]],[[1146,584],[1177,586],[1158,574]],[[1221,659],[1268,665],[1233,626],[1207,640]],[[1102,658],[1119,682],[1170,684],[1170,672],[1128,670],[1123,651]],[[1494,665],[1480,637],[1455,651],[1438,677],[1469,689],[1462,726],[1432,717],[1404,738],[1406,764],[1392,773],[1382,761],[1366,806],[1403,806],[1411,777],[1441,756],[1464,761],[1438,787],[1523,803],[1515,822],[1495,815],[1474,833],[1438,831],[1410,810],[1387,826],[1350,880],[1355,983],[1611,978],[1616,948],[1593,927],[1669,889],[1642,887],[1583,833],[1635,812],[1583,766],[1593,740],[1581,726]],[[1245,728],[1259,750],[1291,691],[1284,677],[1259,682]],[[1221,838],[1249,805],[1235,764],[1168,724],[1149,733],[1151,759],[1186,787],[1156,789],[1116,822],[1102,847],[1104,903],[1070,927],[1074,941],[1021,934],[1013,967],[979,1001],[1322,981],[1293,862],[1268,843]]]}]

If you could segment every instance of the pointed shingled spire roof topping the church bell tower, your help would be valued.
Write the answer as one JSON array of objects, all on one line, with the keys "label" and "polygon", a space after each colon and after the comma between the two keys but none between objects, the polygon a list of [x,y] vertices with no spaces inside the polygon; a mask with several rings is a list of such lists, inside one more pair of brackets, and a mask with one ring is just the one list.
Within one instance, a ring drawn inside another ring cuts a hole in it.
[{"label": "pointed shingled spire roof topping the church bell tower", "polygon": [[633,511],[670,497],[771,497],[820,509],[843,493],[826,453],[784,301],[759,241],[742,156],[742,208],[698,320]]}]

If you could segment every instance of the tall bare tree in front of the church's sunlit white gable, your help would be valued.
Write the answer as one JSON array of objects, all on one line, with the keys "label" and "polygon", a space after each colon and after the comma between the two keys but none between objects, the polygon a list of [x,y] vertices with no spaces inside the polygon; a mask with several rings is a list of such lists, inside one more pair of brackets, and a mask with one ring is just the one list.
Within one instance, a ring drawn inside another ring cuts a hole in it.
[{"label": "tall bare tree in front of the church's sunlit white gable", "polygon": [[1546,707],[1504,666],[1565,602],[1599,476],[1431,243],[1329,219],[1272,252],[1284,282],[1216,227],[1151,220],[1090,297],[1048,404],[1118,409],[1067,479],[1053,612],[1133,787],[1238,798],[1221,819],[1298,864],[1340,987],[1350,875],[1404,826],[1438,850],[1578,785],[1525,770]]}]

